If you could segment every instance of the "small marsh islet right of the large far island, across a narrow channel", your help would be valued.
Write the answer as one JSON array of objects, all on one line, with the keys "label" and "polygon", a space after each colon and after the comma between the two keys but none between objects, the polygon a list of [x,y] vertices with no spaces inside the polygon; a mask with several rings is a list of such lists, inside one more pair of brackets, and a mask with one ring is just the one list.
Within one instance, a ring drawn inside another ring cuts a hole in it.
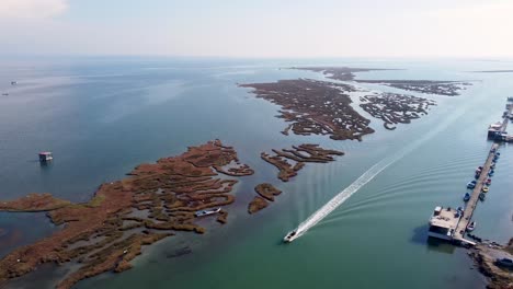
[{"label": "small marsh islet right of the large far island, across a narrow channel", "polygon": [[410,124],[412,119],[428,114],[435,101],[397,93],[379,93],[360,97],[360,106],[375,118],[384,122],[386,129],[396,129],[397,124]]}]

